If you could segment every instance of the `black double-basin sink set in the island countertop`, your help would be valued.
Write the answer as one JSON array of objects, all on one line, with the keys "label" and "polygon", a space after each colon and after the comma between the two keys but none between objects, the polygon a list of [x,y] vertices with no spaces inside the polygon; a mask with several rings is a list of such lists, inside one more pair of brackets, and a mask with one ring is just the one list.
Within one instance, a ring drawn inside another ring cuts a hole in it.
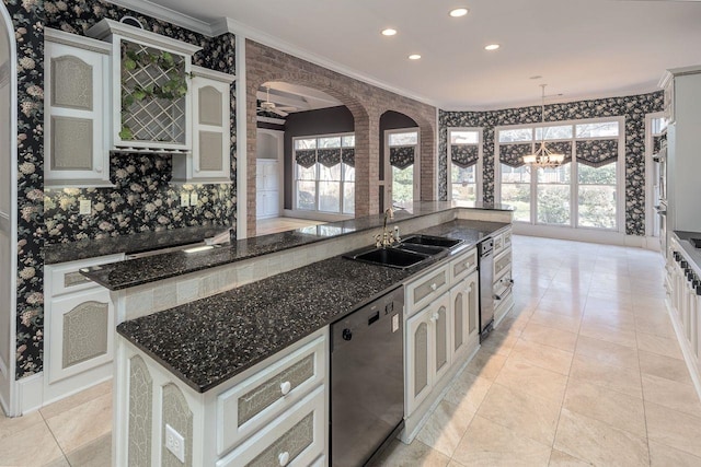
[{"label": "black double-basin sink set in the island countertop", "polygon": [[463,241],[433,235],[411,235],[390,247],[361,249],[344,255],[356,261],[406,269],[432,259],[444,258]]}]

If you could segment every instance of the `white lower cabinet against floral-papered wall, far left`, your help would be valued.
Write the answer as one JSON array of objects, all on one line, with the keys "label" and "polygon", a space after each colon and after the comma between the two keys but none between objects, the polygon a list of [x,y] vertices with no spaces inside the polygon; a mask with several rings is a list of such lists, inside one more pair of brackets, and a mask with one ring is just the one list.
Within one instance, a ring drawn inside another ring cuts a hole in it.
[{"label": "white lower cabinet against floral-papered wall, far left", "polygon": [[45,267],[44,404],[112,377],[115,308],[110,291],[79,269],[114,262],[103,256]]}]

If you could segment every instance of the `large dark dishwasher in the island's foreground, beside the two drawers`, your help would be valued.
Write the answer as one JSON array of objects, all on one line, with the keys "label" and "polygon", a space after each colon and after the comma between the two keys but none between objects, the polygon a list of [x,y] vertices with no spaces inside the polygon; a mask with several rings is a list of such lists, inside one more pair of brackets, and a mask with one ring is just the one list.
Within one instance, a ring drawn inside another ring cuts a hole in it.
[{"label": "large dark dishwasher in the island's foreground, beside the two drawers", "polygon": [[404,427],[404,288],[331,325],[331,465],[374,459]]}]

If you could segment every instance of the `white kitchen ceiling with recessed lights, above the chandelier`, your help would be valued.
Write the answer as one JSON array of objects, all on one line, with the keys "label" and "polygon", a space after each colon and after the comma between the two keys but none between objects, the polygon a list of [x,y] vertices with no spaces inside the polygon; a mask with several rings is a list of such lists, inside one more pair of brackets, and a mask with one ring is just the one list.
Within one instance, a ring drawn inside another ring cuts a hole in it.
[{"label": "white kitchen ceiling with recessed lights, above the chandelier", "polygon": [[[701,63],[699,1],[151,3],[209,24],[228,17],[234,32],[444,109],[536,104],[541,83],[548,94],[562,94],[558,102],[651,92],[665,69]],[[470,13],[450,17],[456,7]],[[399,33],[384,37],[386,27]],[[501,49],[485,51],[491,43]],[[410,54],[422,58],[409,60]]]}]

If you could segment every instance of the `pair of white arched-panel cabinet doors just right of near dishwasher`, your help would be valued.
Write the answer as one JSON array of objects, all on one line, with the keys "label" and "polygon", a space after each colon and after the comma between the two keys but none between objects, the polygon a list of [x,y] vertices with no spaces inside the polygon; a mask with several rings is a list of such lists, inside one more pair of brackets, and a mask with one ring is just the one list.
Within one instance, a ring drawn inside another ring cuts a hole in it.
[{"label": "pair of white arched-panel cabinet doors just right of near dishwasher", "polygon": [[450,367],[450,293],[406,322],[406,413],[412,413]]}]

